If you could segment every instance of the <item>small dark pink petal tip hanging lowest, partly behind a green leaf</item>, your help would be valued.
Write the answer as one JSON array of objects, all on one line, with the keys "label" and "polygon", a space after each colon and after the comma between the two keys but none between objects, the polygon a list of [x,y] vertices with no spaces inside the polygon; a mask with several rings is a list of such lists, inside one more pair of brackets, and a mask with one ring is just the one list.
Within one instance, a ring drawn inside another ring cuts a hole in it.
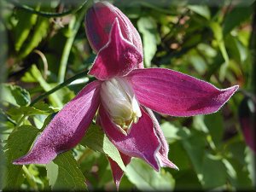
[{"label": "small dark pink petal tip hanging lowest, partly behind a green leaf", "polygon": [[[122,158],[125,166],[127,166],[131,162],[131,157],[127,156],[125,154],[122,154],[121,152],[119,152],[119,154],[121,155],[121,158]],[[110,157],[108,157],[108,161],[109,161],[110,166],[111,166],[112,175],[113,175],[113,181],[114,181],[114,183],[116,185],[116,188],[119,190],[119,184],[120,184],[120,181],[121,181],[121,179],[122,179],[122,177],[124,175],[124,171]]]}]

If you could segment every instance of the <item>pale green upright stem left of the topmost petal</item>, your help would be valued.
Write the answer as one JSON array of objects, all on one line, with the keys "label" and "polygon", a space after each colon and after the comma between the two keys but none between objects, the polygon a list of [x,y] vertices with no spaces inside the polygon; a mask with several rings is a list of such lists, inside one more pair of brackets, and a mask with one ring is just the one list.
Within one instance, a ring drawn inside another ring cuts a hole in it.
[{"label": "pale green upright stem left of the topmost petal", "polygon": [[76,37],[77,32],[79,31],[79,27],[81,26],[81,21],[84,19],[84,15],[87,11],[87,9],[89,8],[91,1],[88,1],[87,6],[84,6],[84,8],[82,8],[78,15],[74,16],[74,22],[70,23],[70,30],[72,31],[72,35],[67,38],[67,42],[65,44],[65,47],[63,49],[63,53],[61,56],[61,63],[60,63],[60,69],[59,69],[59,74],[58,74],[58,82],[62,83],[64,82],[65,79],[65,73],[67,70],[67,61],[68,61],[68,57],[70,54],[70,50],[72,48],[73,45],[73,41],[74,38]]}]

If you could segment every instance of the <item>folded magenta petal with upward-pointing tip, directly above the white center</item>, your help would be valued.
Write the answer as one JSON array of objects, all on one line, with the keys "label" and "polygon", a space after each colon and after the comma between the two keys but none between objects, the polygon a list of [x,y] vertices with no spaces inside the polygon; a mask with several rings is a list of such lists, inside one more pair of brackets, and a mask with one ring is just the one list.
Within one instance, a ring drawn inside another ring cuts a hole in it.
[{"label": "folded magenta petal with upward-pointing tip, directly above the white center", "polygon": [[124,76],[142,61],[143,55],[125,40],[120,32],[119,20],[116,19],[113,22],[108,44],[99,51],[89,74],[100,80]]}]

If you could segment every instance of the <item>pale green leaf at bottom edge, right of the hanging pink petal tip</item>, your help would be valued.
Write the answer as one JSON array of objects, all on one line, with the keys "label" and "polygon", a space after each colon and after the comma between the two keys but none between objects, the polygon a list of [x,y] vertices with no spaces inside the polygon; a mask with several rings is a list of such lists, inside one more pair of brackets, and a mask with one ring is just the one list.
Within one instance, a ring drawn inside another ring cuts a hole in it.
[{"label": "pale green leaf at bottom edge, right of the hanging pink petal tip", "polygon": [[169,172],[165,172],[164,169],[156,172],[140,159],[131,160],[131,163],[126,167],[125,175],[131,183],[136,185],[137,189],[143,191],[170,191],[174,189],[175,185],[175,180]]}]

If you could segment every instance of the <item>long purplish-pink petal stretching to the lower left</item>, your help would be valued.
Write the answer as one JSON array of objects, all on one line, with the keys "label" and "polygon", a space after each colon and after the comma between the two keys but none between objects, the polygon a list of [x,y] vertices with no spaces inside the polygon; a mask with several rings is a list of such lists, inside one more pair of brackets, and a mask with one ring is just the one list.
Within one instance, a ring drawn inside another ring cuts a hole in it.
[{"label": "long purplish-pink petal stretching to the lower left", "polygon": [[47,164],[57,154],[77,145],[99,106],[100,85],[100,81],[94,81],[85,86],[50,121],[32,150],[14,164]]}]

